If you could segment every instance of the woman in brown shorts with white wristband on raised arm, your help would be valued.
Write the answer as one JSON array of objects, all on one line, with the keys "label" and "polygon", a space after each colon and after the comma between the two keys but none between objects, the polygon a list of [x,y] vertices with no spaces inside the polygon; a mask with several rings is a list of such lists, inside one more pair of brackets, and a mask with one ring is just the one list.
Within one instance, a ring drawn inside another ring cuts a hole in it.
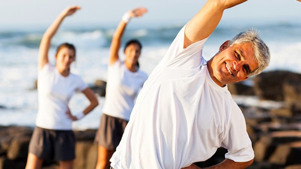
[{"label": "woman in brown shorts with white wristband on raised arm", "polygon": [[132,39],[126,42],[124,62],[120,61],[118,54],[121,37],[128,21],[132,17],[142,16],[145,12],[147,10],[143,7],[126,12],[112,38],[106,98],[95,138],[95,142],[98,143],[97,169],[109,168],[109,159],[119,144],[135,97],[147,78],[147,74],[139,69],[138,58],[141,53],[139,41]]}]

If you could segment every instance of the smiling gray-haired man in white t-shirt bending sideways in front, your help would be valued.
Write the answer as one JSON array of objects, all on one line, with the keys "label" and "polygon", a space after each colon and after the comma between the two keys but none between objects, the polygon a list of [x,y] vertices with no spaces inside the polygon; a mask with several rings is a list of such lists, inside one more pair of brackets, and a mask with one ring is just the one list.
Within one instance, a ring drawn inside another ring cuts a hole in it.
[{"label": "smiling gray-haired man in white t-shirt bending sideways in front", "polygon": [[243,114],[228,83],[260,73],[269,50],[254,30],[225,41],[210,60],[205,41],[223,11],[246,0],[207,0],[180,30],[145,81],[132,110],[112,168],[198,168],[225,147],[225,160],[212,168],[245,168],[254,152]]}]

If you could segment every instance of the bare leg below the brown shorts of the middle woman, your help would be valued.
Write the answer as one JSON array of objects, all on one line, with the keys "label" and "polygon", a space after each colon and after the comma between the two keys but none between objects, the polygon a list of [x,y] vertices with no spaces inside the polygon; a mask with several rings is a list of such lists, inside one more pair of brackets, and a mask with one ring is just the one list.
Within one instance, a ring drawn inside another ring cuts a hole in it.
[{"label": "bare leg below the brown shorts of the middle woman", "polygon": [[98,145],[96,169],[109,169],[110,158],[114,150],[108,150],[105,147]]}]

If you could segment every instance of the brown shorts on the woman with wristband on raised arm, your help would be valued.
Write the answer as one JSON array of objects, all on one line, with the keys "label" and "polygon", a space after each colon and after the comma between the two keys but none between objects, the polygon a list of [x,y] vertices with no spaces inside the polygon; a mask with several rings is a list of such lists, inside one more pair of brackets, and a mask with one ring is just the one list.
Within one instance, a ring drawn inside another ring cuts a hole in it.
[{"label": "brown shorts on the woman with wristband on raised arm", "polygon": [[108,150],[115,150],[128,121],[102,114],[94,142]]}]

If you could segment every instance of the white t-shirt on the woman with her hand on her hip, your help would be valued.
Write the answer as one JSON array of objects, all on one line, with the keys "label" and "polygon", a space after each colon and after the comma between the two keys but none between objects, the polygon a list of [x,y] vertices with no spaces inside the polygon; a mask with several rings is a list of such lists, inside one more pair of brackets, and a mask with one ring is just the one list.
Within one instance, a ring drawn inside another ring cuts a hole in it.
[{"label": "white t-shirt on the woman with her hand on her hip", "polygon": [[87,87],[80,76],[70,72],[64,77],[55,66],[45,64],[38,73],[36,125],[47,129],[71,130],[72,119],[66,114],[69,100],[75,91],[83,91]]}]

